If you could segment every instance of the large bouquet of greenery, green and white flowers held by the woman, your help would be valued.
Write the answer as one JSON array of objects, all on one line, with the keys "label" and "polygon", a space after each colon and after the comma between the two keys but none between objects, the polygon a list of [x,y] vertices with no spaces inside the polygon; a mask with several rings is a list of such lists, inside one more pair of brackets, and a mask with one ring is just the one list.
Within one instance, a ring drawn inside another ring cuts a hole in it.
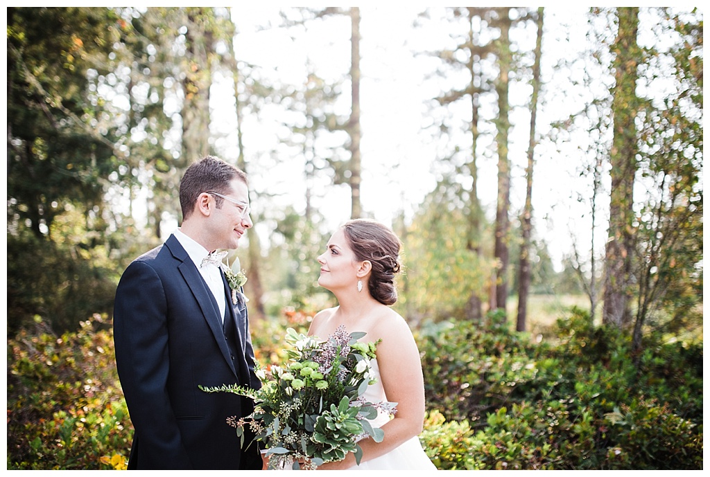
[{"label": "large bouquet of greenery, green and white flowers held by the woman", "polygon": [[270,376],[263,369],[256,374],[261,389],[242,386],[202,388],[207,392],[226,391],[254,400],[254,412],[228,423],[236,427],[244,446],[244,427],[249,426],[254,440],[266,445],[268,468],[313,469],[324,462],[339,461],[354,452],[358,464],[360,439],[371,437],[381,442],[384,432],[371,425],[381,410],[396,412],[396,403],[370,403],[364,398],[369,384],[375,382],[370,360],[377,343],[358,342],[364,332],[348,333],[340,326],[327,341],[298,334],[289,328],[285,341],[293,349],[285,366],[271,366]]}]

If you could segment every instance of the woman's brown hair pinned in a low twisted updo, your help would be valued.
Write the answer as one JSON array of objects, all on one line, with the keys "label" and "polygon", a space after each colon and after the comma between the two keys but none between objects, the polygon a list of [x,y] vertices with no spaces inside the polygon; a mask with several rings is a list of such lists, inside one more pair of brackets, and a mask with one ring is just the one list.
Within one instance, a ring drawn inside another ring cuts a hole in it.
[{"label": "woman's brown hair pinned in a low twisted updo", "polygon": [[399,273],[399,252],[402,246],[395,233],[385,225],[368,219],[354,219],[343,225],[348,245],[358,262],[372,264],[368,288],[380,303],[394,305],[397,301],[395,275]]}]

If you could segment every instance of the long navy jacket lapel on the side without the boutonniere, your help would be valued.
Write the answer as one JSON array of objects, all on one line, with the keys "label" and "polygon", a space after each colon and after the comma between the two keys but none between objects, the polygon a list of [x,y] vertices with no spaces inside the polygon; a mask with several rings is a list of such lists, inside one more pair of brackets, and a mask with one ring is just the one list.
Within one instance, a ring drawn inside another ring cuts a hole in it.
[{"label": "long navy jacket lapel on the side without the boutonniere", "polygon": [[[178,270],[182,274],[182,278],[185,279],[187,286],[190,287],[193,296],[195,296],[195,301],[202,311],[202,316],[204,317],[207,326],[212,331],[214,340],[219,346],[219,350],[222,352],[222,357],[229,364],[231,371],[234,376],[237,376],[236,369],[234,369],[234,362],[231,360],[229,347],[224,339],[224,330],[222,329],[222,317],[219,316],[219,308],[217,308],[217,303],[214,301],[214,296],[212,292],[207,288],[207,284],[204,283],[200,271],[197,270],[197,266],[192,262],[190,256],[182,248],[178,239],[174,235],[170,235],[168,240],[165,241],[165,245],[170,249],[173,257],[182,262],[178,265]],[[224,281],[224,276],[222,281]],[[230,301],[231,303],[231,301]],[[231,306],[227,307],[231,309]]]}]

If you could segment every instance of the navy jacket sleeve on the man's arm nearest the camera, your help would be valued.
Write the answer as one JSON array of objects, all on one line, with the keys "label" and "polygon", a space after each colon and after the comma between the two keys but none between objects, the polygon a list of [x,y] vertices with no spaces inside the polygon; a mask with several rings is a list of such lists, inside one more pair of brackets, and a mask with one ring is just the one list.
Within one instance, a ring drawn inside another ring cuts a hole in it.
[{"label": "navy jacket sleeve on the man's arm nearest the camera", "polygon": [[168,305],[153,267],[133,262],[114,304],[114,343],[141,468],[192,468],[168,398]]}]

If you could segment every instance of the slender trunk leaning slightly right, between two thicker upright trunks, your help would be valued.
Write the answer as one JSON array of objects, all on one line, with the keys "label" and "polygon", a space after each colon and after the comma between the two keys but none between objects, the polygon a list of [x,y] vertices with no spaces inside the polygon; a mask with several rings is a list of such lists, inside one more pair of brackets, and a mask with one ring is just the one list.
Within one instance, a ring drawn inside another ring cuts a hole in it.
[{"label": "slender trunk leaning slightly right, between two thicker upright trunks", "polygon": [[525,331],[528,318],[528,291],[530,291],[530,234],[532,229],[532,169],[535,166],[535,118],[537,118],[537,96],[540,92],[540,55],[542,55],[542,16],[544,7],[537,9],[537,43],[535,43],[535,64],[532,67],[532,98],[530,99],[530,142],[528,143],[528,168],[525,169],[527,187],[523,218],[523,243],[520,244],[520,279],[518,280],[518,320],[515,330]]}]

